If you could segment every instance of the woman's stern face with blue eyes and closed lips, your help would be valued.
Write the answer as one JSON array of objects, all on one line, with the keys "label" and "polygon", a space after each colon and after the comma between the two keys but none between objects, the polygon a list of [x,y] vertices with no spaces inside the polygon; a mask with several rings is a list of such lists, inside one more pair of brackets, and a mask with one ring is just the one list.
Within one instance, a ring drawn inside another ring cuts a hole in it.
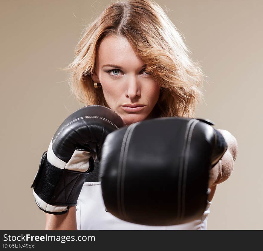
[{"label": "woman's stern face with blue eyes and closed lips", "polygon": [[127,125],[151,118],[159,98],[160,87],[145,68],[124,37],[108,36],[97,49],[92,80]]}]

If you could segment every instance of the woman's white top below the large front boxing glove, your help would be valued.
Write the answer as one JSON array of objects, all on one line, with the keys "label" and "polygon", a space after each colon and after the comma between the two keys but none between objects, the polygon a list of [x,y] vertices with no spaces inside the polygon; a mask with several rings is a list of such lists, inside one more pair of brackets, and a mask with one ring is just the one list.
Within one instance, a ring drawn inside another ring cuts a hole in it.
[{"label": "woman's white top below the large front boxing glove", "polygon": [[211,202],[201,217],[186,224],[173,226],[145,226],[126,222],[106,211],[100,182],[85,182],[77,201],[78,230],[206,230]]}]

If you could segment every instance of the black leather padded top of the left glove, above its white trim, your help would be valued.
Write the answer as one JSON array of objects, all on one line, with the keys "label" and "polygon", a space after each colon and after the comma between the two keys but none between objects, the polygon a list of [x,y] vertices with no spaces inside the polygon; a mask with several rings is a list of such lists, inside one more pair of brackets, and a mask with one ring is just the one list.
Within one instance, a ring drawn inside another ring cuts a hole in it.
[{"label": "black leather padded top of the left glove, above its white trim", "polygon": [[123,126],[125,123],[121,117],[111,109],[97,105],[84,106],[59,126],[53,136],[53,152],[65,162],[70,160],[76,147],[97,152],[105,137]]}]

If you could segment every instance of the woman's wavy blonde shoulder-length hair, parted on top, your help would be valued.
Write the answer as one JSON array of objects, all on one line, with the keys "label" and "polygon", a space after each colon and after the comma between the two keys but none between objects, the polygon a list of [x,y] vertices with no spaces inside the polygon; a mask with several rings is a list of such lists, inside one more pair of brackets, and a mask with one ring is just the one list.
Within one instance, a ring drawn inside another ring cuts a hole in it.
[{"label": "woman's wavy blonde shoulder-length hair, parted on top", "polygon": [[163,9],[151,0],[124,0],[108,6],[83,30],[74,61],[65,68],[77,100],[107,106],[91,74],[96,50],[107,35],[124,36],[161,87],[155,106],[158,117],[194,117],[202,97],[204,74],[189,58],[189,49]]}]

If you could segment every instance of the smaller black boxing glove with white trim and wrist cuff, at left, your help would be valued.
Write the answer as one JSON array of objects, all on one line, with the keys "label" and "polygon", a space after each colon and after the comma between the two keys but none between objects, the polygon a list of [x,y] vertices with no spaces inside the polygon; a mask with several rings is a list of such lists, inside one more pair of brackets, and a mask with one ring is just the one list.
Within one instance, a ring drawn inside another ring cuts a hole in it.
[{"label": "smaller black boxing glove with white trim and wrist cuff, at left", "polygon": [[85,106],[71,114],[57,129],[41,158],[31,188],[38,207],[63,214],[76,206],[86,175],[100,161],[105,137],[126,126],[117,113],[104,106]]}]

